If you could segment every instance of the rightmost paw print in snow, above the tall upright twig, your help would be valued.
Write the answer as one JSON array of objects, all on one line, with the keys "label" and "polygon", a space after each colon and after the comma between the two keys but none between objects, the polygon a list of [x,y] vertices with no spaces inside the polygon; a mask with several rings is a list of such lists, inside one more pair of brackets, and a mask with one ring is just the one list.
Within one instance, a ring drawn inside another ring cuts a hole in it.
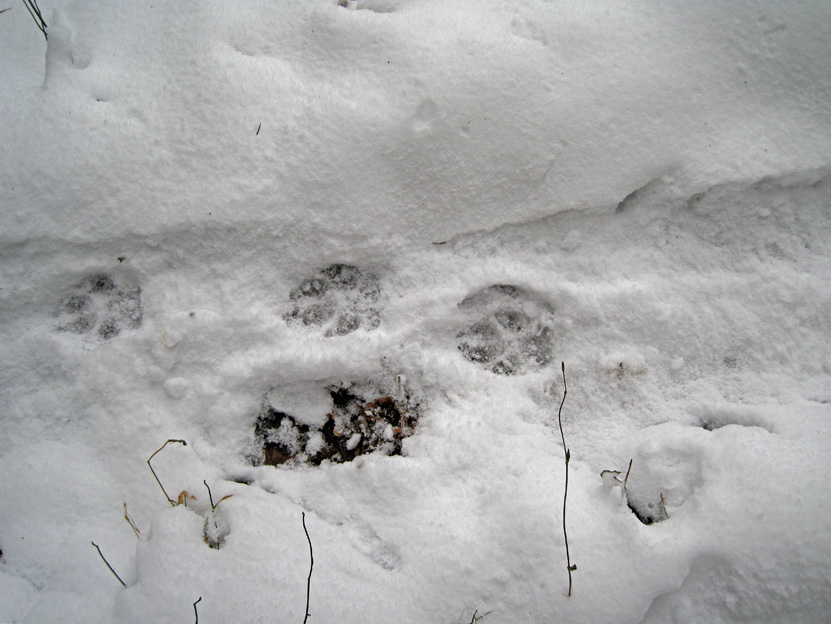
[{"label": "rightmost paw print in snow, above the tall upright twig", "polygon": [[498,375],[521,374],[551,361],[550,310],[526,290],[494,284],[465,297],[459,309],[471,319],[457,335],[467,360]]}]

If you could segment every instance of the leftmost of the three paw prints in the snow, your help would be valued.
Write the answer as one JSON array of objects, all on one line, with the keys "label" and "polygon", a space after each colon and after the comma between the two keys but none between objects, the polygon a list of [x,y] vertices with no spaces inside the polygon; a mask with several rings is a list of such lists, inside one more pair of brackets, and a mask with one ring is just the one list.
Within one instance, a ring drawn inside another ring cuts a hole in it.
[{"label": "leftmost of the three paw prints in the snow", "polygon": [[58,305],[58,332],[111,340],[124,329],[141,326],[141,289],[106,273],[84,278]]}]

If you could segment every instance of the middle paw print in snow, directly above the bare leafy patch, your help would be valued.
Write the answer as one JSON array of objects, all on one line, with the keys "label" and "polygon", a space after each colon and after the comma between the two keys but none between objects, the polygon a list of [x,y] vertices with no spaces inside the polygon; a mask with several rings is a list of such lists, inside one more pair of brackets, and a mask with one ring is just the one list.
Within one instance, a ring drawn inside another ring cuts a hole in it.
[{"label": "middle paw print in snow, directly above the bare leafy patch", "polygon": [[291,291],[293,307],[284,319],[289,326],[312,327],[324,336],[343,336],[381,324],[378,278],[348,264],[333,264]]}]

